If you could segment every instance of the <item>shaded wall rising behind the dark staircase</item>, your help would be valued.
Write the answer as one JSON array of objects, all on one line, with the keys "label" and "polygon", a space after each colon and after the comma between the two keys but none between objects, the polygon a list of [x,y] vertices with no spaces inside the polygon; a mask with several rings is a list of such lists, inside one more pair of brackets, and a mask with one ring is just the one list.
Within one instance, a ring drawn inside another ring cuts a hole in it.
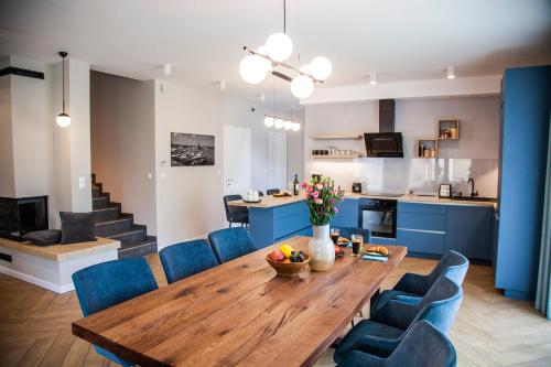
[{"label": "shaded wall rising behind the dark staircase", "polygon": [[154,82],[91,72],[90,104],[91,171],[156,235]]}]

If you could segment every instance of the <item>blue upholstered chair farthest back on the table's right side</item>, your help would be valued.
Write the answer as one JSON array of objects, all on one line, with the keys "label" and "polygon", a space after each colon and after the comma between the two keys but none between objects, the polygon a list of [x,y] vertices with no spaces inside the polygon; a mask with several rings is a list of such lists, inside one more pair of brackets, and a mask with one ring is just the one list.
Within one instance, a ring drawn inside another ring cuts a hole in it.
[{"label": "blue upholstered chair farthest back on the table's right side", "polygon": [[447,277],[461,285],[467,270],[468,259],[460,252],[450,250],[440,259],[430,274],[407,273],[393,289],[381,292],[371,304],[371,314],[392,299],[408,303],[419,302],[420,298],[426,294],[432,284],[441,277]]}]

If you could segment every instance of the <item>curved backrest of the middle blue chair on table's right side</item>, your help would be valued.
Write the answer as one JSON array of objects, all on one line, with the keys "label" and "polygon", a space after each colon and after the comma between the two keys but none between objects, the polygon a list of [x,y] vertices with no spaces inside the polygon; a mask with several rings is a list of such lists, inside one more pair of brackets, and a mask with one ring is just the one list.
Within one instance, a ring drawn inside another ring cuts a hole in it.
[{"label": "curved backrest of the middle blue chair on table's right side", "polygon": [[455,321],[462,300],[461,285],[447,277],[439,278],[417,305],[419,312],[410,323],[410,327],[417,321],[425,320],[442,333],[447,334]]}]

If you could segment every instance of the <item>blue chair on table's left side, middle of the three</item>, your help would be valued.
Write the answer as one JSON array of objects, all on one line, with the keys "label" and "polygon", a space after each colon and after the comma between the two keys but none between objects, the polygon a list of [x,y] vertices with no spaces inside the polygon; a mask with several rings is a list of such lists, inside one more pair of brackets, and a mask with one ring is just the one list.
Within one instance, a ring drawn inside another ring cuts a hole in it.
[{"label": "blue chair on table's left side, middle of the three", "polygon": [[206,239],[171,245],[159,252],[169,284],[218,265]]}]

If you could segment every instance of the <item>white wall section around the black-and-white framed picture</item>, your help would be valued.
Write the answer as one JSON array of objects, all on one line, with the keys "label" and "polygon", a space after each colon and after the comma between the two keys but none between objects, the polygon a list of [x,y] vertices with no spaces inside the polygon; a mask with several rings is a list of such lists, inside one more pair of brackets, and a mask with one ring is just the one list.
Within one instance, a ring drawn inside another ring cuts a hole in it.
[{"label": "white wall section around the black-and-white framed picture", "polygon": [[[224,227],[224,129],[219,93],[172,80],[155,80],[154,87],[156,231],[163,248]],[[171,168],[171,132],[215,136],[215,165]]]}]

